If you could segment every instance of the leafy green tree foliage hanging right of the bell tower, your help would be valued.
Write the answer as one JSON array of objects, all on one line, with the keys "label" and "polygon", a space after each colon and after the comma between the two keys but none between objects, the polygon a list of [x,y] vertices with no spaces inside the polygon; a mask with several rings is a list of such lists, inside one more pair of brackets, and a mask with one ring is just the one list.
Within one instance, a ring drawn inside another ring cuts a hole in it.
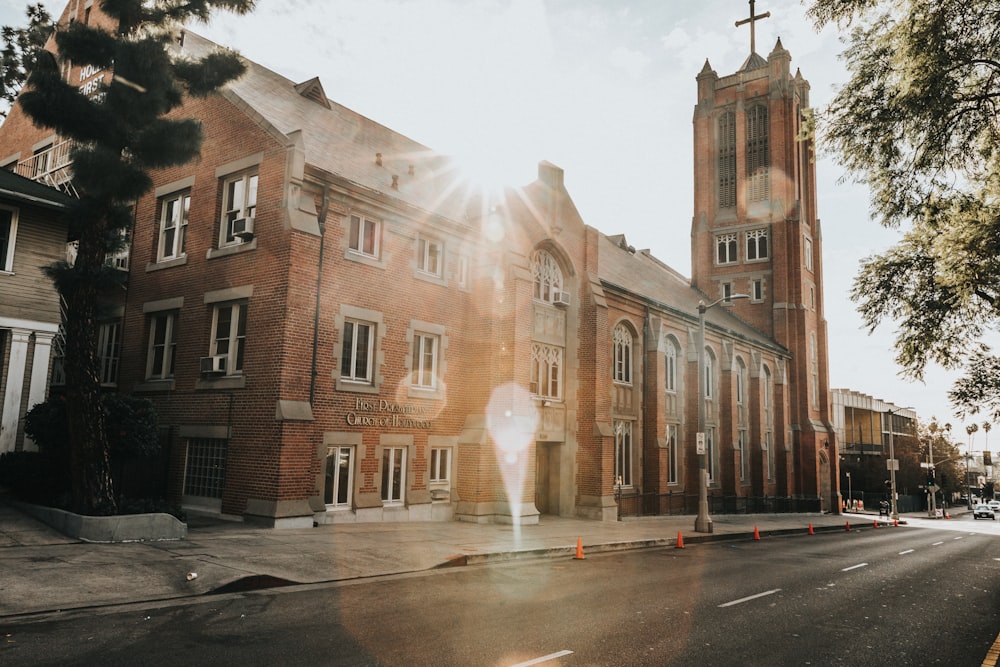
[{"label": "leafy green tree foliage hanging right of the bell tower", "polygon": [[[977,365],[1000,324],[1000,2],[815,0],[817,27],[849,29],[850,80],[817,122],[900,241],[864,259],[852,298],[870,332],[895,323],[902,375],[967,374],[960,415],[1000,410]],[[974,385],[974,386],[973,386]],[[979,391],[973,391],[978,388]]]}]

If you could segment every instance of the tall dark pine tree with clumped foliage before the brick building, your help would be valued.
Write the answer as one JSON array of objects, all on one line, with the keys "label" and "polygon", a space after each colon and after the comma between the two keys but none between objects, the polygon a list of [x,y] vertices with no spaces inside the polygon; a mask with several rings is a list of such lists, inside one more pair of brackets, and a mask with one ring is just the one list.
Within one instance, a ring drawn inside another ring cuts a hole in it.
[{"label": "tall dark pine tree with clumped foliage before the brick building", "polygon": [[[18,103],[36,123],[73,142],[73,185],[80,197],[69,218],[78,242],[75,262],[49,267],[66,304],[64,366],[70,431],[73,510],[117,511],[101,409],[98,317],[102,294],[120,284],[108,257],[123,248],[131,203],[151,188],[148,171],[198,155],[201,124],[166,117],[184,95],[204,96],[239,77],[237,54],[219,51],[199,61],[177,57],[179,26],[216,9],[246,13],[253,0],[101,0],[117,30],[75,22],[56,33],[57,56],[41,52]],[[104,70],[96,90],[63,79],[60,61]]]}]

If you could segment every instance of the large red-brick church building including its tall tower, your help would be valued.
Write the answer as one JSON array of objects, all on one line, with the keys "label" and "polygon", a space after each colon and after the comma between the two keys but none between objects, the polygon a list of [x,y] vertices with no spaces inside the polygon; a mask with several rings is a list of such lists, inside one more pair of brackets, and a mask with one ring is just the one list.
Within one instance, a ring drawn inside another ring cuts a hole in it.
[{"label": "large red-brick church building including its tall tower", "polygon": [[[71,0],[59,22],[102,18]],[[172,499],[275,527],[614,520],[640,496],[693,513],[703,464],[713,511],[839,511],[809,85],[790,60],[779,41],[697,74],[690,279],[588,226],[559,167],[484,195],[319,78],[248,62],[188,99],[201,158],[135,203],[100,337],[108,389],[157,407]],[[39,180],[66,185],[65,148],[16,104],[0,127],[0,166]]]}]

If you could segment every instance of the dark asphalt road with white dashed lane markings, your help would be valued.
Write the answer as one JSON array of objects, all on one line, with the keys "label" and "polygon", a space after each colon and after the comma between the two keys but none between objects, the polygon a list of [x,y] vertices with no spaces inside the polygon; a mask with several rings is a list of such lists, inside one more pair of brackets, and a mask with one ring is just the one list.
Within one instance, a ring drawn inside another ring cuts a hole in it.
[{"label": "dark asphalt road with white dashed lane markings", "polygon": [[22,619],[0,664],[981,665],[1000,526],[916,523]]}]

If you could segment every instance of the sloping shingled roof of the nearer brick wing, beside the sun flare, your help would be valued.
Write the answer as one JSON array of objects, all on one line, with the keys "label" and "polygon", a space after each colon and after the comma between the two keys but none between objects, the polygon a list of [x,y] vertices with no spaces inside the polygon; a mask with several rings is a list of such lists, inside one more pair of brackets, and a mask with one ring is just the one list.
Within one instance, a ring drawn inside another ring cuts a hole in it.
[{"label": "sloping shingled roof of the nearer brick wing, beside the sun flare", "polygon": [[[178,48],[196,58],[221,47],[186,32]],[[469,184],[453,159],[328,99],[319,78],[296,84],[244,62],[246,74],[224,95],[281,135],[301,131],[307,165],[418,209],[465,220]]]}]

